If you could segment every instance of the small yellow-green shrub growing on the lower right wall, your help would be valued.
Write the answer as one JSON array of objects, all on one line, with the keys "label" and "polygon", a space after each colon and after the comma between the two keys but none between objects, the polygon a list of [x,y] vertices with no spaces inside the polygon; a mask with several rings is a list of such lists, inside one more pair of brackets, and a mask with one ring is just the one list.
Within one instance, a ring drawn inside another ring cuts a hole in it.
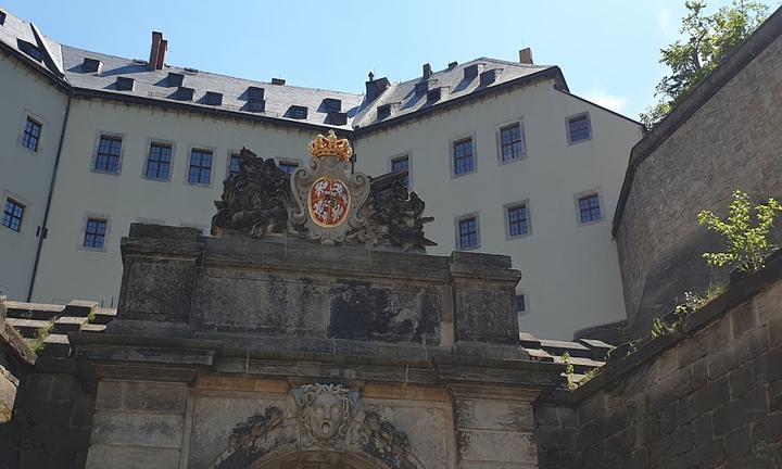
[{"label": "small yellow-green shrub growing on the lower right wall", "polygon": [[766,257],[775,249],[769,244],[768,236],[780,213],[782,205],[773,199],[753,208],[749,195],[740,190],[733,192],[724,220],[709,211],[701,212],[698,223],[719,232],[728,242],[726,252],[704,253],[706,263],[717,267],[730,265],[744,272],[762,268]]}]

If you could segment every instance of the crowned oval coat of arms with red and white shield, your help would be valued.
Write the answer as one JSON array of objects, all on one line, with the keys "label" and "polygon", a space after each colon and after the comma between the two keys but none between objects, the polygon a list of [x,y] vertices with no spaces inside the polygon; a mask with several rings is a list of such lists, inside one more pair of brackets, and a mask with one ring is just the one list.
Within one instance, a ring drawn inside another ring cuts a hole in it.
[{"label": "crowned oval coat of arms with red and white shield", "polygon": [[299,168],[290,179],[297,202],[291,223],[305,228],[311,241],[343,242],[352,228],[365,223],[358,211],[369,195],[369,177],[350,174],[353,150],[333,130],[310,143],[310,165]]}]

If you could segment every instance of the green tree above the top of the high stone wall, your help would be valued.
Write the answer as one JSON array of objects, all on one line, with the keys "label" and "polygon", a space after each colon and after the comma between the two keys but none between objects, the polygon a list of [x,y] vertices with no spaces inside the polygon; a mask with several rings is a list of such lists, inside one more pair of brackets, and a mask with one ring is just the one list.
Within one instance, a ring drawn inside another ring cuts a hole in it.
[{"label": "green tree above the top of the high stone wall", "polygon": [[768,7],[756,1],[734,0],[714,14],[706,14],[706,2],[688,0],[682,18],[683,39],[660,50],[660,63],[670,68],[657,84],[654,104],[641,113],[641,122],[654,127],[719,66],[722,60],[740,46],[768,16]]}]

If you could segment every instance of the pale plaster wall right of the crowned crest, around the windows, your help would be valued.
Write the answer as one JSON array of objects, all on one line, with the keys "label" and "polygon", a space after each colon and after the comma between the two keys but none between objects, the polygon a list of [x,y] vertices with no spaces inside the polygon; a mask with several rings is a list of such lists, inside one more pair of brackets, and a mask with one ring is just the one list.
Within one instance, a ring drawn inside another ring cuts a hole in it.
[{"label": "pale plaster wall right of the crowned crest, around the windows", "polygon": [[[590,113],[593,138],[568,144],[566,118]],[[501,125],[521,118],[527,154],[499,164]],[[477,172],[451,177],[451,141],[472,135]],[[480,249],[513,256],[522,271],[518,292],[527,294],[529,315],[519,325],[541,338],[569,338],[575,330],[626,317],[610,219],[631,147],[640,126],[553,89],[552,83],[440,112],[356,141],[357,168],[390,170],[392,156],[408,153],[412,189],[436,217],[427,237],[430,253],[455,249],[455,218],[479,214]],[[575,195],[597,189],[603,219],[581,226]],[[503,205],[529,201],[531,234],[507,240]]]}]

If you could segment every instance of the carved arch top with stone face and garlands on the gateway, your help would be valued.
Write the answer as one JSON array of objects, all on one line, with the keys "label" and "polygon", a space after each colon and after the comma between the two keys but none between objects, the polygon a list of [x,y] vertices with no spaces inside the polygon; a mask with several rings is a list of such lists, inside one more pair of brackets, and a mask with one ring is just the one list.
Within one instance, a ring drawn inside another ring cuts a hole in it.
[{"label": "carved arch top with stone face and garlands on the gateway", "polygon": [[289,411],[270,406],[237,424],[206,469],[425,469],[407,434],[357,392],[314,383],[290,397]]}]

